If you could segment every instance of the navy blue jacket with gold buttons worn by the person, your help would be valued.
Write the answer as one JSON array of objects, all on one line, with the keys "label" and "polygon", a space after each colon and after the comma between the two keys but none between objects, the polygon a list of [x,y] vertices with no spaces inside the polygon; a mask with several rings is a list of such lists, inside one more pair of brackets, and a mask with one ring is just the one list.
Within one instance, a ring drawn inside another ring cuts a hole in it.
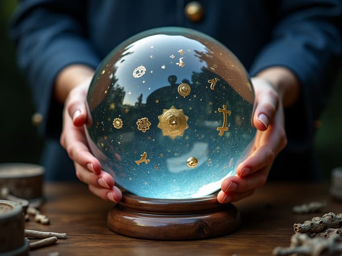
[{"label": "navy blue jacket with gold buttons worn by the person", "polygon": [[187,0],[19,1],[10,35],[37,111],[44,117],[39,131],[48,139],[43,162],[48,177],[67,177],[64,172],[74,176],[58,144],[62,106],[52,97],[58,72],[76,63],[96,68],[123,40],[163,26],[188,27],[214,37],[238,56],[250,76],[274,65],[291,69],[302,90],[286,110],[288,146],[274,162],[270,178],[314,176],[314,122],[324,109],[342,56],[342,1],[200,2],[205,16],[192,22],[184,15]]}]

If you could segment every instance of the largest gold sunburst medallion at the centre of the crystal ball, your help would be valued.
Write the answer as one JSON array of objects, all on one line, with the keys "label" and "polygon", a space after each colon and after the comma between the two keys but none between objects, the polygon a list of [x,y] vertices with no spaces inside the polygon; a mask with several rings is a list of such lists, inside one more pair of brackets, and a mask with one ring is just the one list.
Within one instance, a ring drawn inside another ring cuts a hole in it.
[{"label": "largest gold sunburst medallion at the centre of the crystal ball", "polygon": [[158,128],[163,131],[164,136],[170,136],[172,140],[177,136],[183,136],[184,131],[188,129],[188,116],[182,109],[177,110],[172,106],[170,109],[163,110],[163,113],[158,116]]}]

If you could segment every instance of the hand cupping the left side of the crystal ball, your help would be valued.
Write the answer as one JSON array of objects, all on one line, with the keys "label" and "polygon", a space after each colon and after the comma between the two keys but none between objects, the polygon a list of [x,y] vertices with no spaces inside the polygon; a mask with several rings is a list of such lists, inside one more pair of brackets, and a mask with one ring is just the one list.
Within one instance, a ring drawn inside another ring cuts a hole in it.
[{"label": "hand cupping the left side of the crystal ball", "polygon": [[63,128],[60,144],[67,150],[74,162],[76,176],[88,185],[93,194],[114,202],[119,202],[122,193],[114,186],[114,179],[104,172],[101,163],[90,152],[85,137],[87,118],[86,95],[91,77],[71,89],[64,103]]}]

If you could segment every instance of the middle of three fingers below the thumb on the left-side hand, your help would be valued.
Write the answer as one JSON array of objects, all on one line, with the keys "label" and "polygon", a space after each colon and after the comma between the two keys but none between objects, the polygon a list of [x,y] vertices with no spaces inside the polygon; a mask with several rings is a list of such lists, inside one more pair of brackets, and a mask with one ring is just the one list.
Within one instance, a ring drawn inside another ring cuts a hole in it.
[{"label": "middle of three fingers below the thumb on the left-side hand", "polygon": [[77,178],[85,184],[106,189],[110,189],[114,186],[113,177],[104,171],[101,171],[99,174],[95,174],[89,172],[89,170],[83,168],[78,163],[75,163],[75,171]]}]

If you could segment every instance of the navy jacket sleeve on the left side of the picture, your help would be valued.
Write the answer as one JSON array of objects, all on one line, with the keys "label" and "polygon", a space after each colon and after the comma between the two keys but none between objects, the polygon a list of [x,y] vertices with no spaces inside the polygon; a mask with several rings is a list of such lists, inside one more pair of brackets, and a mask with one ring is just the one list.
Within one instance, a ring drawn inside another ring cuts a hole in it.
[{"label": "navy jacket sleeve on the left side of the picture", "polygon": [[43,121],[39,133],[59,137],[62,108],[52,96],[55,77],[65,66],[96,68],[99,57],[88,43],[86,1],[21,0],[10,23],[17,62]]}]

